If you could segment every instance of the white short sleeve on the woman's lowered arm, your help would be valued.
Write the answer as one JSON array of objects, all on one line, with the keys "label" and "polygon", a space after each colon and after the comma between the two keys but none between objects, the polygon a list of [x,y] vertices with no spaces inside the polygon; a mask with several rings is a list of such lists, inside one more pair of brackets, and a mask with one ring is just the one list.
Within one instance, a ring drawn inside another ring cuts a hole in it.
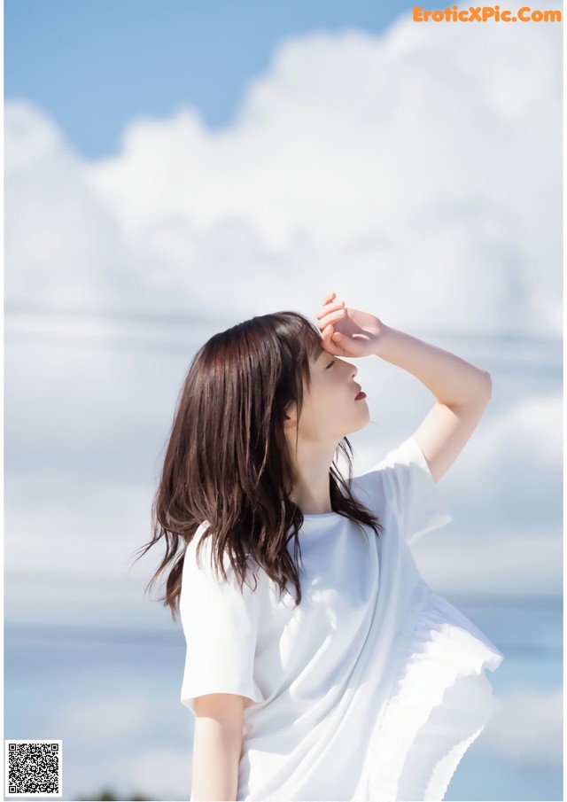
[{"label": "white short sleeve on the woman's lowered arm", "polygon": [[195,697],[209,693],[239,694],[261,702],[264,697],[253,679],[259,620],[254,580],[247,575],[241,592],[228,555],[228,581],[217,577],[211,538],[203,542],[198,559],[197,541],[197,536],[190,541],[183,560],[179,604],[187,651],[181,702],[193,713]]}]

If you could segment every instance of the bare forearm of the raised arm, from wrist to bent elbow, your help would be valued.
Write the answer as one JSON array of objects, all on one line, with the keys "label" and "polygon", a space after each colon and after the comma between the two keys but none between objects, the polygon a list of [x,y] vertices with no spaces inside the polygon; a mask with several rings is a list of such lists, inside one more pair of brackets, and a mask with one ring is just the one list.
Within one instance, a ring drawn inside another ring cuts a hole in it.
[{"label": "bare forearm of the raised arm, from wrist to bent elbow", "polygon": [[490,395],[491,378],[487,371],[443,348],[382,325],[384,333],[377,356],[408,370],[431,390],[439,403],[459,406]]}]

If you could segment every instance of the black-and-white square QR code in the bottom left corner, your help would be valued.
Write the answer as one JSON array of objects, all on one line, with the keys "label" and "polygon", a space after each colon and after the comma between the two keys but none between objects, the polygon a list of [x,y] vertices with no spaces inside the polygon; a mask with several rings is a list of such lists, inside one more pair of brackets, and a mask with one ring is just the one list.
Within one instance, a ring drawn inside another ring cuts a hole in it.
[{"label": "black-and-white square QR code in the bottom left corner", "polygon": [[5,796],[60,797],[62,741],[4,741]]}]

